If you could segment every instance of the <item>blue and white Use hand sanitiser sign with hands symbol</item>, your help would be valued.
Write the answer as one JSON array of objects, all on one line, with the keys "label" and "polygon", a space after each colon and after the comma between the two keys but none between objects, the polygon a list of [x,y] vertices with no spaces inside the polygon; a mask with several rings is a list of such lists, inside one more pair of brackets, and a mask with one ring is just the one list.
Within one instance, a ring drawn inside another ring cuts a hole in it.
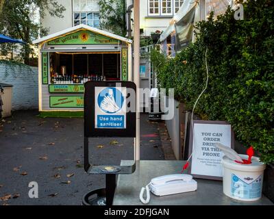
[{"label": "blue and white Use hand sanitiser sign with hands symbol", "polygon": [[95,87],[95,128],[126,128],[127,88]]}]

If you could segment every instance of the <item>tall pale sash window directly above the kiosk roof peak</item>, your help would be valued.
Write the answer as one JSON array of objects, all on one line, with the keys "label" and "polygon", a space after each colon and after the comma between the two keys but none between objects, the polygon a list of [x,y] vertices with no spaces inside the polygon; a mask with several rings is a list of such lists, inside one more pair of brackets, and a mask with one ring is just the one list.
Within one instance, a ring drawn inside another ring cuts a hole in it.
[{"label": "tall pale sash window directly above the kiosk roof peak", "polygon": [[73,0],[73,25],[100,27],[99,0]]}]

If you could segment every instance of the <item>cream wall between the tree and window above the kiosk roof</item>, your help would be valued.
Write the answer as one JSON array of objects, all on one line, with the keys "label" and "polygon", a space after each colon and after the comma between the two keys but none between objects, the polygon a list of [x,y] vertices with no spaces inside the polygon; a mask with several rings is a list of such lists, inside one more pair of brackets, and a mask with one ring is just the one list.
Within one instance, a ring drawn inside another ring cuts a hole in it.
[{"label": "cream wall between the tree and window above the kiosk roof", "polygon": [[57,18],[47,13],[45,17],[41,19],[42,27],[49,28],[49,34],[54,34],[63,29],[73,27],[72,0],[58,0],[58,3],[62,4],[64,8],[66,8],[63,12],[63,18]]}]

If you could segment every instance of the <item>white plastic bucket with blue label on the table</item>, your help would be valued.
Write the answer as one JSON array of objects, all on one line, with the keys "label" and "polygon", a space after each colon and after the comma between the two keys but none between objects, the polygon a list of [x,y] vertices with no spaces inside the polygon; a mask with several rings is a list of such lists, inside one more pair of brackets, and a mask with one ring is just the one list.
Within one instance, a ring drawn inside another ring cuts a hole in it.
[{"label": "white plastic bucket with blue label on the table", "polygon": [[[240,155],[247,159],[247,155]],[[266,165],[258,157],[252,157],[251,164],[238,164],[224,156],[223,193],[240,201],[257,201],[262,197],[262,182]]]}]

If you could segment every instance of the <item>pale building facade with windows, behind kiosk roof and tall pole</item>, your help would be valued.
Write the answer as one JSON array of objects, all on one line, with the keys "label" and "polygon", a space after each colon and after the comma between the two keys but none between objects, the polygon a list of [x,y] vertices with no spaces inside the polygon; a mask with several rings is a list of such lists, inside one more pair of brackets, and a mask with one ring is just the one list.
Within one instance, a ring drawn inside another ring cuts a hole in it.
[{"label": "pale building facade with windows, behind kiosk roof and tall pole", "polygon": [[[183,2],[184,0],[140,0],[141,36],[150,36],[155,31],[164,31]],[[58,3],[66,8],[62,18],[46,14],[41,19],[42,26],[49,29],[49,34],[79,24],[100,27],[99,0],[58,0]],[[133,0],[127,0],[126,3],[128,8],[133,4]],[[134,21],[133,12],[131,19],[130,25]]]}]

